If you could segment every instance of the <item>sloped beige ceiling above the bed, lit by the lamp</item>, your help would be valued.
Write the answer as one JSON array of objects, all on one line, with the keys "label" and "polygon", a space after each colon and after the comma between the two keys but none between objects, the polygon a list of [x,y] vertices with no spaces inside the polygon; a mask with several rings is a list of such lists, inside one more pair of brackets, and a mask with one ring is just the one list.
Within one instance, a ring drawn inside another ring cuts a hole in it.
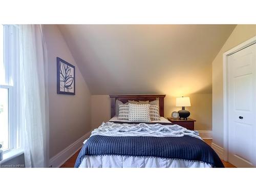
[{"label": "sloped beige ceiling above the bed, lit by the lamp", "polygon": [[211,93],[211,62],[236,26],[58,27],[91,94],[181,96]]}]

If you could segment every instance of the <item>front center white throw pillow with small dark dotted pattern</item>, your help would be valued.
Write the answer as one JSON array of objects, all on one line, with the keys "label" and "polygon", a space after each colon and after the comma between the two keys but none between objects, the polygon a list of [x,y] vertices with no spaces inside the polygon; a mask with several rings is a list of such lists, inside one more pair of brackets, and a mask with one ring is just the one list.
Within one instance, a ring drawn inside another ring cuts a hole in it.
[{"label": "front center white throw pillow with small dark dotted pattern", "polygon": [[132,122],[150,122],[150,104],[129,105],[129,121]]}]

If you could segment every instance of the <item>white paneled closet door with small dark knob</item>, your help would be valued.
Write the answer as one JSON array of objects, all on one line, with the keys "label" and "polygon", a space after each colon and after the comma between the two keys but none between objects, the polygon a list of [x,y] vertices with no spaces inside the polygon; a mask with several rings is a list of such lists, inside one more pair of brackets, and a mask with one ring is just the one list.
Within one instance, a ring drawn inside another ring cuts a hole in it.
[{"label": "white paneled closet door with small dark knob", "polygon": [[256,157],[256,45],[228,56],[228,161],[254,167]]}]

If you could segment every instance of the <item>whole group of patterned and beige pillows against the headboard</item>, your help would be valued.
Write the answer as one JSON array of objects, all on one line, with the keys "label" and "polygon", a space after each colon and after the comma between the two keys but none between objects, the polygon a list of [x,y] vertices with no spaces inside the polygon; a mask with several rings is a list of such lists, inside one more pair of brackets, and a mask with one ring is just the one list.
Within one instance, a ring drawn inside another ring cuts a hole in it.
[{"label": "whole group of patterned and beige pillows against the headboard", "polygon": [[[159,106],[156,101],[130,101],[125,104],[118,103],[118,120],[129,120],[132,122],[159,121]],[[152,103],[152,104],[151,104]],[[154,104],[153,104],[154,103]]]}]

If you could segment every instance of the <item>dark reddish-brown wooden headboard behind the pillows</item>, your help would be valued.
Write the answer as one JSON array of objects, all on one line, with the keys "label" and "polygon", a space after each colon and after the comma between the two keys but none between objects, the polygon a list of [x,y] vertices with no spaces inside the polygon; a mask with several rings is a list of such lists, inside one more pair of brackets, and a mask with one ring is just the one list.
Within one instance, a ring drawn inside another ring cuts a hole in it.
[{"label": "dark reddish-brown wooden headboard behind the pillows", "polygon": [[123,103],[128,100],[135,101],[154,101],[159,98],[159,114],[164,117],[164,97],[165,95],[110,95],[111,98],[111,118],[116,115],[116,100],[122,101]]}]

